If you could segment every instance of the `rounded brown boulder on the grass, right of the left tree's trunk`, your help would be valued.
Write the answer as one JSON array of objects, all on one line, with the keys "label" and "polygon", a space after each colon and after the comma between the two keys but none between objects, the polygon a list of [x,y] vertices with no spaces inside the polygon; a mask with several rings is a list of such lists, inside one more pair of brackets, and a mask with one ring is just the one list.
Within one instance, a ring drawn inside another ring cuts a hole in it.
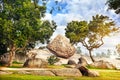
[{"label": "rounded brown boulder on the grass, right of the left tree's trunk", "polygon": [[48,63],[40,58],[32,58],[27,59],[24,63],[23,67],[29,67],[29,68],[45,68],[47,67]]}]

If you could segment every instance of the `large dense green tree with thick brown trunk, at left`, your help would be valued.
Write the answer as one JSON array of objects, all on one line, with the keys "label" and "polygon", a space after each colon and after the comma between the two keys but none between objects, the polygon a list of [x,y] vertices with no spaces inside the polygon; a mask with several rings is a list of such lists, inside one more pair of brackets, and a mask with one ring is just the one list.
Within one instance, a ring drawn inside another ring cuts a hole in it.
[{"label": "large dense green tree with thick brown trunk, at left", "polygon": [[0,1],[0,43],[9,48],[12,65],[15,52],[36,41],[44,43],[56,29],[52,21],[42,21],[45,6],[38,0],[1,0]]}]

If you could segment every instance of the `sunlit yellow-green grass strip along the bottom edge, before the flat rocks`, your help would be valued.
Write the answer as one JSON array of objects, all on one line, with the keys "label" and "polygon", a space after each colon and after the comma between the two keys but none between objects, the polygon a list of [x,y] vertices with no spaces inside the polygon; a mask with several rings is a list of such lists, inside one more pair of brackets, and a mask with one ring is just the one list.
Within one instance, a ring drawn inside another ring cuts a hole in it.
[{"label": "sunlit yellow-green grass strip along the bottom edge, before the flat rocks", "polygon": [[24,75],[11,74],[1,75],[0,80],[120,80],[119,70],[98,70],[100,77],[58,77],[58,76],[38,76],[38,75]]}]

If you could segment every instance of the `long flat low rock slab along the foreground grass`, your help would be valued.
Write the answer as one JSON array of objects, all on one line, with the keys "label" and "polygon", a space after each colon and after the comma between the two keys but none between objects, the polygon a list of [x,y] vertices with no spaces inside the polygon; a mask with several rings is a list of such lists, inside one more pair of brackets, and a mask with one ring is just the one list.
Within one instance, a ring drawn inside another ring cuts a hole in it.
[{"label": "long flat low rock slab along the foreground grass", "polygon": [[[5,70],[6,71],[6,70]],[[4,72],[5,72],[4,71]],[[11,71],[11,70],[10,70]],[[11,73],[11,72],[7,73]],[[17,74],[29,74],[29,75],[40,75],[40,76],[65,76],[65,77],[81,77],[82,74],[78,69],[64,68],[64,69],[38,69],[37,70],[16,70],[12,71]],[[4,74],[4,73],[2,73]]]}]

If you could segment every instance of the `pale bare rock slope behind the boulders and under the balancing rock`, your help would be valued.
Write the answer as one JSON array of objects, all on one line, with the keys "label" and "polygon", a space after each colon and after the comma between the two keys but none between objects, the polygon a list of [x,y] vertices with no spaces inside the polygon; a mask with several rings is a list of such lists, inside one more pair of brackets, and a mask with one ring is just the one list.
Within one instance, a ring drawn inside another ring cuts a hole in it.
[{"label": "pale bare rock slope behind the boulders and under the balancing rock", "polygon": [[[38,49],[35,49],[35,50],[32,50],[32,52],[35,52],[37,53],[36,57],[37,58],[42,58],[42,59],[45,59],[47,60],[48,57],[50,57],[51,55],[53,55],[49,50],[38,50]],[[80,54],[74,54],[72,57],[68,58],[68,59],[64,59],[64,58],[60,58],[60,61],[55,63],[55,65],[61,65],[61,64],[67,64],[68,60],[74,60],[76,63],[78,63],[78,59],[81,57]],[[91,64],[92,61],[90,59],[89,56],[82,56],[84,57],[88,64]],[[120,69],[120,60],[117,59],[116,57],[110,57],[110,58],[105,58],[105,57],[94,57],[94,59],[96,61],[99,61],[99,60],[104,60],[104,61],[107,61],[107,62],[110,62],[111,64],[113,64],[114,66],[116,66],[118,69]]]}]

